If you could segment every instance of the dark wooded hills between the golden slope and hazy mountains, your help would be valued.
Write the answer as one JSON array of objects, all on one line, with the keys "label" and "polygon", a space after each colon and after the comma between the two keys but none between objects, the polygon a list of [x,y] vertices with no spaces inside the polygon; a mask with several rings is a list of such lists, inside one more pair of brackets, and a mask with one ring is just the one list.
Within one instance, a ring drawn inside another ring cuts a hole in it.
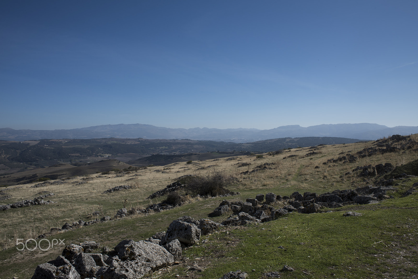
[{"label": "dark wooded hills between the golden slope and hazy mountains", "polygon": [[[357,141],[358,139],[334,137],[270,139],[246,144],[191,139],[116,138],[0,141],[0,175],[8,178],[6,180],[0,178],[0,185],[12,183],[12,178],[18,172],[19,179],[27,175],[20,172],[26,171],[32,171],[32,173],[48,172],[53,175],[54,173],[50,171],[52,169],[46,171],[43,168],[62,164],[78,167],[88,165],[84,174],[93,174],[96,171],[102,172],[103,170],[100,167],[93,170],[92,167],[95,165],[92,165],[92,163],[104,159],[116,159],[135,166],[166,165],[171,162],[215,159],[234,154],[234,152],[236,155],[245,155],[245,152],[269,152],[284,148],[307,147],[319,143],[338,144]],[[194,155],[190,155],[192,153]],[[189,158],[190,156],[192,156],[192,159]],[[71,166],[61,166],[59,169],[68,167]],[[55,178],[71,175],[71,173],[66,174],[66,172],[57,172],[56,174],[58,176],[55,176]],[[15,182],[20,181],[22,180],[16,180]]]}]

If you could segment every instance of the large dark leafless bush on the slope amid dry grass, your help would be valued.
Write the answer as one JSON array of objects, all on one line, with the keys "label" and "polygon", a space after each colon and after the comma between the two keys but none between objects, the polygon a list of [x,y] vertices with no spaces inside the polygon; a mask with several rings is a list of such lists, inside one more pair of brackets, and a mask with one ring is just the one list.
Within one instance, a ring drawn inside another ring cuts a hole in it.
[{"label": "large dark leafless bush on the slope amid dry grass", "polygon": [[207,177],[192,176],[187,184],[187,189],[195,195],[211,195],[215,197],[231,193],[226,187],[231,185],[235,179],[234,176],[226,175],[224,172],[213,172]]}]

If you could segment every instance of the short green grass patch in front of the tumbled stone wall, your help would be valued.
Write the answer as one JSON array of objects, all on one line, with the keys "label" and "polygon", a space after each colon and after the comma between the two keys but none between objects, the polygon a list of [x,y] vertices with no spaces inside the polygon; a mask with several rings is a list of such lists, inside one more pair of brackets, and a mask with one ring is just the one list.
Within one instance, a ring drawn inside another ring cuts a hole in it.
[{"label": "short green grass patch in front of the tumbled stone wall", "polygon": [[[280,271],[284,264],[295,271],[283,272],[282,278],[384,278],[383,273],[402,272],[418,275],[416,208],[405,208],[416,207],[417,200],[418,195],[413,195],[332,213],[292,213],[259,226],[213,234],[208,242],[187,249],[184,256],[212,259],[201,273],[202,279],[220,278],[238,269],[255,279],[265,272]],[[363,216],[343,217],[350,210]],[[400,252],[408,255],[407,261]],[[393,261],[394,257],[402,260],[400,264]],[[178,274],[186,273],[180,269]]]}]

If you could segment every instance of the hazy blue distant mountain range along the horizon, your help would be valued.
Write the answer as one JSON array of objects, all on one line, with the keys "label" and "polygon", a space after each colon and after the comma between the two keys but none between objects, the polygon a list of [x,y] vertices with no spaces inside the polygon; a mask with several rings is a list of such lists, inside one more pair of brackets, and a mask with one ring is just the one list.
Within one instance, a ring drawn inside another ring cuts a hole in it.
[{"label": "hazy blue distant mountain range along the horizon", "polygon": [[321,124],[309,127],[299,125],[280,126],[274,129],[172,129],[147,124],[99,125],[79,129],[15,130],[0,128],[0,139],[24,141],[30,139],[94,139],[94,138],[144,138],[144,139],[193,139],[224,142],[255,142],[283,137],[346,137],[374,140],[393,134],[415,134],[418,126],[396,126],[357,123]]}]

